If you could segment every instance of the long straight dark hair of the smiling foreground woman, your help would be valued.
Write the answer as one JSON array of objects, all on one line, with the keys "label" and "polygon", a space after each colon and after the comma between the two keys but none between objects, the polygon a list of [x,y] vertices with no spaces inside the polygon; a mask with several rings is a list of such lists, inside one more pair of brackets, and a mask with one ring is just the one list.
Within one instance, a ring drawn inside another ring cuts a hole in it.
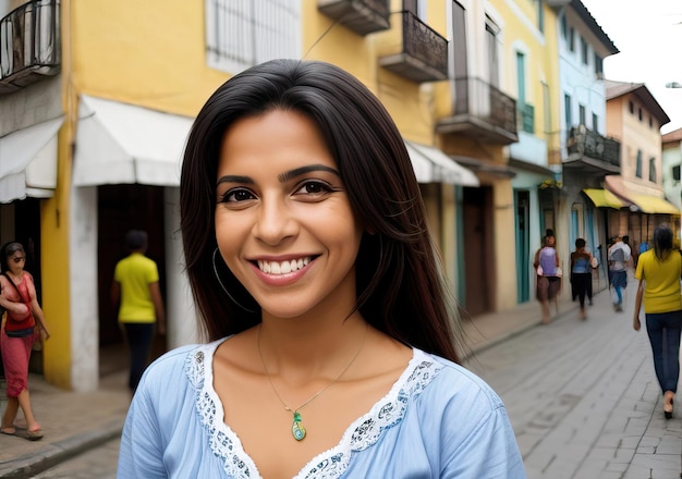
[{"label": "long straight dark hair of the smiling foreground woman", "polygon": [[403,138],[367,87],[319,61],[273,60],[235,75],[208,99],[190,133],[180,182],[181,230],[190,285],[208,340],[239,333],[261,319],[254,298],[215,254],[214,213],[227,130],[275,109],[301,112],[317,124],[365,228],[356,259],[357,310],[407,345],[459,360],[453,303],[447,299]]}]

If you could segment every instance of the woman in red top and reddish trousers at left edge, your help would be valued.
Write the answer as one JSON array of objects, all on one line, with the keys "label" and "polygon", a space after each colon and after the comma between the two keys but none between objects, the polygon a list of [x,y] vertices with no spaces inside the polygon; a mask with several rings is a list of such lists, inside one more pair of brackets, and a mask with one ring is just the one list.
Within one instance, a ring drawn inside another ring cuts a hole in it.
[{"label": "woman in red top and reddish trousers at left edge", "polygon": [[0,432],[16,434],[14,420],[21,407],[26,419],[25,437],[35,441],[42,438],[42,427],[36,420],[31,404],[28,361],[34,342],[48,340],[50,333],[38,304],[33,275],[24,271],[25,261],[26,253],[21,243],[7,243],[0,248],[0,305],[7,309],[0,331],[0,348],[8,395]]}]

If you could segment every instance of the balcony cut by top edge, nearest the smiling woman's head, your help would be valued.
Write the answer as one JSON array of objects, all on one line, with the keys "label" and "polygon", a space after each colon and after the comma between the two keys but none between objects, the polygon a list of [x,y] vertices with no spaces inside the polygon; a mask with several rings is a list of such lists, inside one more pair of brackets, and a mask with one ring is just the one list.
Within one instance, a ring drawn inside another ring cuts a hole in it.
[{"label": "balcony cut by top edge, nearest the smiling woman's head", "polygon": [[317,10],[362,36],[391,27],[390,0],[318,0]]}]

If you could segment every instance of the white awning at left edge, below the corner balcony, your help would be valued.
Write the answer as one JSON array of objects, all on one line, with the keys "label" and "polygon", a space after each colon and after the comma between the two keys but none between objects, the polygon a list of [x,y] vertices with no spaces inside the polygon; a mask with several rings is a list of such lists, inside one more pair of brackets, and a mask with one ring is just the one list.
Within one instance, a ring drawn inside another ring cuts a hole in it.
[{"label": "white awning at left edge, below the corner balcony", "polygon": [[57,132],[63,116],[0,138],[0,202],[50,198],[57,187]]}]

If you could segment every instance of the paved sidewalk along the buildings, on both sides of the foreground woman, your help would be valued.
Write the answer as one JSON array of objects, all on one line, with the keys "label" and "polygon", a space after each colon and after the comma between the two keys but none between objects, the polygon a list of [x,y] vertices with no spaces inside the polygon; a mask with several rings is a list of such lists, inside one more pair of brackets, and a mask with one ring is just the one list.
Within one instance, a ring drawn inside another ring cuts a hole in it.
[{"label": "paved sidewalk along the buildings, on both sides of the foreground woman", "polygon": [[[558,302],[556,318],[570,312],[577,315],[577,303],[571,303],[565,290]],[[482,315],[463,321],[467,348],[476,353],[540,323],[540,307],[535,300],[514,309]],[[127,371],[107,374],[99,389],[89,393],[64,391],[48,384],[42,377],[28,380],[36,418],[45,438],[24,440],[22,413],[17,417],[20,438],[0,434],[0,477],[29,478],[88,449],[118,438],[130,404],[126,386]],[[5,403],[2,402],[4,410]],[[23,437],[23,438],[22,438]]]}]

